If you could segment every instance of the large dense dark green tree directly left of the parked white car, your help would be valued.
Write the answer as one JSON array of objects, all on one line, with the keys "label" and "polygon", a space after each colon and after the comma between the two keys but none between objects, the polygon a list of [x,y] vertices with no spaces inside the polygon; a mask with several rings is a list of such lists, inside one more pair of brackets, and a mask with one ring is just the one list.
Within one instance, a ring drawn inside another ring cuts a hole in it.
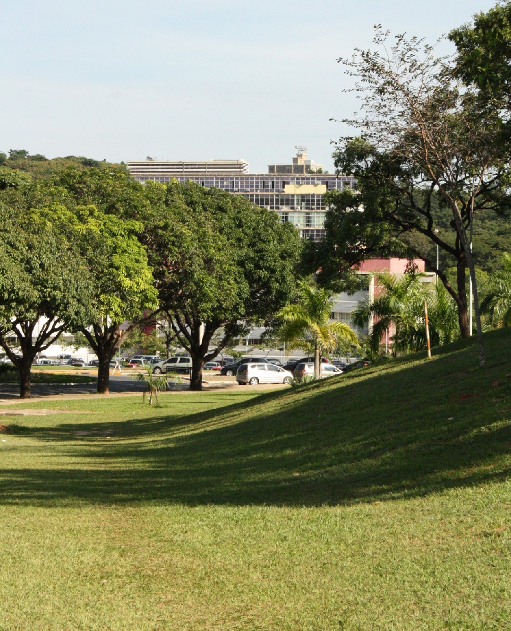
[{"label": "large dense dark green tree directly left of the parked white car", "polygon": [[162,309],[192,358],[190,388],[200,390],[204,363],[289,300],[298,233],[225,191],[192,182],[145,186],[143,242]]}]

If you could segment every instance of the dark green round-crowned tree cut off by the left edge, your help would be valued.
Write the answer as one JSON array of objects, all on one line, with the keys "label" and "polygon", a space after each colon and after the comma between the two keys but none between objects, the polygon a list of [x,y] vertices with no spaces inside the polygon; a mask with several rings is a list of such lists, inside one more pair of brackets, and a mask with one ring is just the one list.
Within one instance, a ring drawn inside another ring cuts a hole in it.
[{"label": "dark green round-crowned tree cut off by the left edge", "polygon": [[[63,235],[0,201],[0,346],[30,397],[30,370],[41,351],[90,317],[92,286],[80,254]],[[11,348],[18,341],[21,355]]]}]

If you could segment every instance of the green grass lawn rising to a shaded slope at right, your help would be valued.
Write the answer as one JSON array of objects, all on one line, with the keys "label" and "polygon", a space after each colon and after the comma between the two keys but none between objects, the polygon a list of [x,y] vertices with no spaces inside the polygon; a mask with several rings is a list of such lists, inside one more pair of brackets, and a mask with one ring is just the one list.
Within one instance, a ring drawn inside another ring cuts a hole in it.
[{"label": "green grass lawn rising to a shaded slope at right", "polygon": [[511,628],[510,333],[484,370],[23,403],[55,414],[0,419],[0,630]]}]

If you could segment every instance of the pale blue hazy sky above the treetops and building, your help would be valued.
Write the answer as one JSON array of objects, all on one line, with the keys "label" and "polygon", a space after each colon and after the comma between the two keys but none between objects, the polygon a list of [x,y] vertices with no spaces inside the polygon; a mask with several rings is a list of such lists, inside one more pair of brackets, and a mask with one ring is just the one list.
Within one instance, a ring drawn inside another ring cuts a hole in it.
[{"label": "pale blue hazy sky above the treetops and building", "polygon": [[[433,44],[495,0],[0,0],[0,151],[109,162],[289,163],[334,170],[353,114],[337,62],[373,27]],[[440,52],[454,52],[448,43]]]}]

